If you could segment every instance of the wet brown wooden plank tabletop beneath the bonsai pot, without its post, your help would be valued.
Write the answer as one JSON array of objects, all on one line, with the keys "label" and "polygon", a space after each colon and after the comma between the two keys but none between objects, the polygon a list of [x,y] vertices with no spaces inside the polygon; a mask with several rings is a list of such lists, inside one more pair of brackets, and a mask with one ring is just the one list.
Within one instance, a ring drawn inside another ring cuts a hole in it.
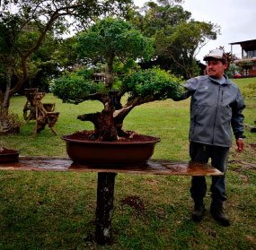
[{"label": "wet brown wooden plank tabletop beneath the bonsai pot, without its post", "polygon": [[0,170],[106,172],[166,176],[223,175],[216,168],[207,164],[171,159],[149,159],[146,164],[139,167],[92,168],[85,165],[77,165],[69,158],[21,156],[18,162],[1,163]]}]

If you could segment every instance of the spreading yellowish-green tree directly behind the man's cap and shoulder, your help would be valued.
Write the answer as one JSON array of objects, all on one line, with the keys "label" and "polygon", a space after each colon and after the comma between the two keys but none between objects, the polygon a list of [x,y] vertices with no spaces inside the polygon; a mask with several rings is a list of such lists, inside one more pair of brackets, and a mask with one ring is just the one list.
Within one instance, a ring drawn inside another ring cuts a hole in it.
[{"label": "spreading yellowish-green tree directly behind the man's cap and shoulder", "polygon": [[180,22],[170,30],[155,33],[156,53],[172,59],[172,70],[181,71],[185,79],[194,76],[195,56],[208,39],[216,39],[214,25],[207,22]]}]

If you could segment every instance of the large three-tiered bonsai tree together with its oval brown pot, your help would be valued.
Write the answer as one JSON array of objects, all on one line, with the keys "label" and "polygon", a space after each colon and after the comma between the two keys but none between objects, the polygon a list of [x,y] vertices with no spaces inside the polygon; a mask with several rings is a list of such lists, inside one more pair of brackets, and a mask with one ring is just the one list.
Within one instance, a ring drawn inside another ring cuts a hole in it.
[{"label": "large three-tiered bonsai tree together with its oval brown pot", "polygon": [[[105,81],[93,82],[92,70],[66,73],[53,82],[51,91],[67,103],[99,100],[104,108],[102,112],[77,116],[82,121],[92,122],[94,130],[64,135],[68,155],[77,162],[93,166],[146,162],[160,139],[124,131],[123,120],[138,105],[180,96],[181,80],[154,68],[127,72],[121,81],[115,81],[115,62],[126,66],[131,60],[147,60],[154,52],[152,39],[145,38],[122,20],[108,18],[94,24],[80,36],[76,51],[81,58],[100,60],[107,65]],[[122,105],[124,95],[128,95],[128,99]]]}]

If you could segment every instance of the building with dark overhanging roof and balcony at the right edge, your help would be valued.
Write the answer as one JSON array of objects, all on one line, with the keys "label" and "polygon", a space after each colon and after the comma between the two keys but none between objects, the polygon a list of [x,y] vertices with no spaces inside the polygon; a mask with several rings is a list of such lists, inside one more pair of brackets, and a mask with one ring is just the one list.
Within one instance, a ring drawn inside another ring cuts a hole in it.
[{"label": "building with dark overhanging roof and balcony at the right edge", "polygon": [[240,45],[242,49],[241,58],[234,60],[234,64],[240,66],[243,77],[256,76],[256,39],[233,42],[231,53],[234,45]]}]

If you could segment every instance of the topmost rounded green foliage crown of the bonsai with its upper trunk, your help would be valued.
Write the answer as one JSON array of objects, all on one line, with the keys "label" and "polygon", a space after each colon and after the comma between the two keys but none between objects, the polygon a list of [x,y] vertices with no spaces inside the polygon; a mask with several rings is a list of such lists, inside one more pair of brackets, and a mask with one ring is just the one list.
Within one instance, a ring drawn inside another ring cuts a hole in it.
[{"label": "topmost rounded green foliage crown of the bonsai with its upper trunk", "polygon": [[108,18],[97,22],[92,29],[79,39],[77,52],[80,57],[92,58],[93,62],[107,64],[106,82],[113,84],[113,63],[115,57],[123,63],[129,59],[148,60],[153,54],[153,40],[142,36],[128,22]]}]

